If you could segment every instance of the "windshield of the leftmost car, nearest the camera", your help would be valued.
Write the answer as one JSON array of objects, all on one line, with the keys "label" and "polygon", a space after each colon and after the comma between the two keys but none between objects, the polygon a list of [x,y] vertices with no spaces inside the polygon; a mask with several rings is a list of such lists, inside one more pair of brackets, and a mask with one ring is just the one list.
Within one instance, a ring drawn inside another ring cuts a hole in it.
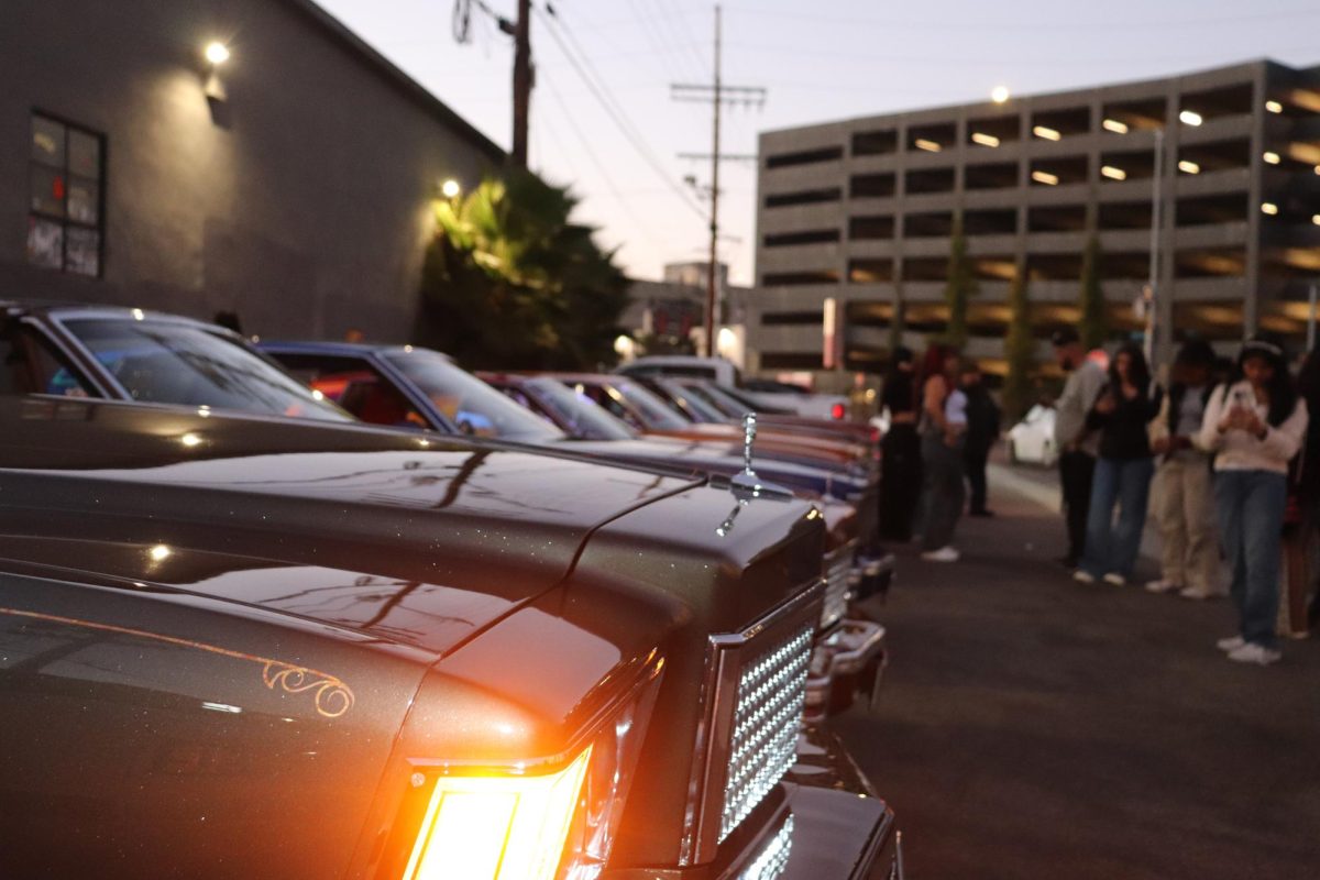
[{"label": "windshield of the leftmost car, nearest the camera", "polygon": [[203,327],[150,318],[63,326],[139,402],[352,421],[264,358]]}]

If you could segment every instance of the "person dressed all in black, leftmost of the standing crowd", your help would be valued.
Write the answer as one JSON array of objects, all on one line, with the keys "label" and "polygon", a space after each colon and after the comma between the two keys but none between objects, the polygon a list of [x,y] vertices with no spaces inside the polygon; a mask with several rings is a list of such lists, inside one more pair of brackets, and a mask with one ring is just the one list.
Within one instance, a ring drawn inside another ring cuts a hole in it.
[{"label": "person dressed all in black, leftmost of the standing crowd", "polygon": [[880,442],[880,534],[911,541],[917,500],[921,497],[921,438],[917,435],[916,363],[909,348],[895,348],[884,376],[880,406],[890,427]]}]

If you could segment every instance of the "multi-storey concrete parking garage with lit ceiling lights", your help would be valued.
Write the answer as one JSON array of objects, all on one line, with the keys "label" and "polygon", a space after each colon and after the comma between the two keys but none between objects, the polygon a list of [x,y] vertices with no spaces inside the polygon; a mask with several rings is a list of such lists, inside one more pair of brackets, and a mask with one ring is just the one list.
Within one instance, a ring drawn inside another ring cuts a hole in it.
[{"label": "multi-storey concrete parking garage with lit ceiling lights", "polygon": [[979,282],[969,354],[986,368],[1003,369],[1019,270],[1048,356],[1051,329],[1077,319],[1093,235],[1110,323],[1140,330],[1158,132],[1160,326],[1300,339],[1320,280],[1320,67],[1258,61],[763,133],[748,367],[820,369],[829,299],[849,369],[883,365],[899,310],[904,342],[923,344],[948,317],[958,216]]}]

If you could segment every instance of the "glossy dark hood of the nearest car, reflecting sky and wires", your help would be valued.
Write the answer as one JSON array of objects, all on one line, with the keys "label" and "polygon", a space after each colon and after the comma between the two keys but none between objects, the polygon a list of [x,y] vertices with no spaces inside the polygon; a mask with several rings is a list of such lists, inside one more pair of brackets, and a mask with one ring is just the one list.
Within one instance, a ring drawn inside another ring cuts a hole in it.
[{"label": "glossy dark hood of the nearest car, reflecting sky and wires", "polygon": [[0,400],[0,555],[444,653],[684,476],[206,410]]}]

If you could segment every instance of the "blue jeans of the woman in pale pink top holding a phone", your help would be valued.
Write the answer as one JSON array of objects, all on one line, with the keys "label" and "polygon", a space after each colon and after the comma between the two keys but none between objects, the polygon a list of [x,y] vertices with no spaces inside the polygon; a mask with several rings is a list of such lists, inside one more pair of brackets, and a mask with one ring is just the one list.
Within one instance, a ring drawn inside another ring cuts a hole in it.
[{"label": "blue jeans of the woman in pale pink top holding a phone", "polygon": [[1239,635],[1275,648],[1279,616],[1279,553],[1288,487],[1274,471],[1218,471],[1214,507],[1229,558],[1229,595],[1237,606]]}]

